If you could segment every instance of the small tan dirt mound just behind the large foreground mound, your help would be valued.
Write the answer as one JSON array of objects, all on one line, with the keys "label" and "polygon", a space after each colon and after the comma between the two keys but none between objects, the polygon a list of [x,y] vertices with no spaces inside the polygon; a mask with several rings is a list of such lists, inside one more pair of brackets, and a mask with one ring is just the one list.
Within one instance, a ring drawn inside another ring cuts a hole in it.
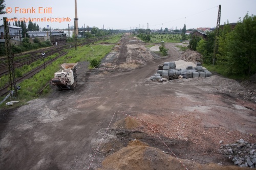
[{"label": "small tan dirt mound just behind the large foreground mound", "polygon": [[126,117],[125,119],[118,120],[114,124],[114,128],[121,128],[121,129],[135,129],[139,126],[138,121],[135,118]]}]

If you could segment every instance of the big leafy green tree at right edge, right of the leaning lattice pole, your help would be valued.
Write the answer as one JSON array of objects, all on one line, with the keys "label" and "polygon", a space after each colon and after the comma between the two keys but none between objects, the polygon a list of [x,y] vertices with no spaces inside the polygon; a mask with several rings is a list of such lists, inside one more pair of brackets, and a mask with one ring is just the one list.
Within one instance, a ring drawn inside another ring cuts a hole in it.
[{"label": "big leafy green tree at right edge, right of the leaning lattice pole", "polygon": [[232,74],[251,75],[256,72],[256,16],[245,15],[226,38],[220,39],[220,55]]}]

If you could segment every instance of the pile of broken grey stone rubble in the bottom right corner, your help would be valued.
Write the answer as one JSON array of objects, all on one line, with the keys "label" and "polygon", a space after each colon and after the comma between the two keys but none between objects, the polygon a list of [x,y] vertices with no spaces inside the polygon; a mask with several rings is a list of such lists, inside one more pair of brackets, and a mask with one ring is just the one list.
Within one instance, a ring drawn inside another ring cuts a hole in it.
[{"label": "pile of broken grey stone rubble in the bottom right corner", "polygon": [[256,143],[249,143],[243,139],[232,144],[222,144],[220,152],[235,165],[240,167],[256,167]]}]

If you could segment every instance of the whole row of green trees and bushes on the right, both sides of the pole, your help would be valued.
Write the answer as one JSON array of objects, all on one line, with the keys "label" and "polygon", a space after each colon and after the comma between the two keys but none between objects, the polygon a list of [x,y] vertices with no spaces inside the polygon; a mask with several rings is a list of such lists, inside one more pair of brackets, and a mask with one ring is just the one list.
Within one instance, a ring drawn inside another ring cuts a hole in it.
[{"label": "whole row of green trees and bushes on the right, both sides of the pole", "polygon": [[253,75],[256,73],[256,16],[248,14],[232,28],[227,22],[219,31],[208,32],[202,39],[193,35],[189,47],[202,54],[202,63],[213,64],[215,38],[217,51],[215,65],[229,75]]}]

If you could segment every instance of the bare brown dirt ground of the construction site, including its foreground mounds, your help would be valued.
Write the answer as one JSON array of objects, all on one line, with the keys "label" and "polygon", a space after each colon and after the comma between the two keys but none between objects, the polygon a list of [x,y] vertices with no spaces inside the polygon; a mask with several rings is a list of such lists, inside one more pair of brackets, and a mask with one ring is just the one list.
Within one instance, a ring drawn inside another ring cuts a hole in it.
[{"label": "bare brown dirt ground of the construction site, including its foreground mounds", "polygon": [[240,169],[219,142],[256,143],[248,89],[217,75],[150,80],[161,63],[186,64],[165,47],[160,57],[124,35],[101,69],[79,62],[75,90],[2,108],[0,169]]}]

